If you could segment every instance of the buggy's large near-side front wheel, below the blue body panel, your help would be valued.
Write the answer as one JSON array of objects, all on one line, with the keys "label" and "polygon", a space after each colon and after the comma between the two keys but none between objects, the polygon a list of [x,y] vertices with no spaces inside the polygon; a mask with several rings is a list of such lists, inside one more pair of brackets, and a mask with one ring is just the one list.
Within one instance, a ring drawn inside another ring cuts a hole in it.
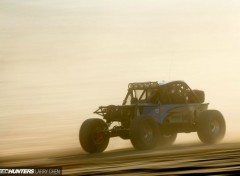
[{"label": "buggy's large near-side front wheel, below the blue body panel", "polygon": [[130,140],[135,149],[148,150],[157,146],[159,127],[152,117],[141,116],[130,125]]}]

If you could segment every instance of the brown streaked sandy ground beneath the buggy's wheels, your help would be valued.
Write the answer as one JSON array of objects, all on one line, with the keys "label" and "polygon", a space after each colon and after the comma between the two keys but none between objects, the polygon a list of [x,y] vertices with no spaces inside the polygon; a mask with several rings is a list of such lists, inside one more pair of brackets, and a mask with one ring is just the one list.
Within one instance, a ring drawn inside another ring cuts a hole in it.
[{"label": "brown streaked sandy ground beneath the buggy's wheels", "polygon": [[240,172],[240,143],[187,143],[150,151],[125,148],[91,155],[69,149],[1,160],[2,166],[61,166],[64,175],[233,175]]}]

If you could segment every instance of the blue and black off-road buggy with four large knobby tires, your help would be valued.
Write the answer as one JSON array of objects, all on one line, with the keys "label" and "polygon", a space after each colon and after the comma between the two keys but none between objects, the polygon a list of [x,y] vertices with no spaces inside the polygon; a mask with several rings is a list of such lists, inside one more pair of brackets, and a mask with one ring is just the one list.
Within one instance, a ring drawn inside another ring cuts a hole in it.
[{"label": "blue and black off-road buggy with four large knobby tires", "polygon": [[80,144],[88,153],[103,152],[109,139],[119,136],[146,150],[170,145],[177,133],[189,132],[197,132],[203,143],[217,143],[225,135],[225,120],[219,111],[207,110],[204,101],[203,91],[191,90],[183,81],[130,83],[122,105],[94,112],[104,120],[83,122]]}]

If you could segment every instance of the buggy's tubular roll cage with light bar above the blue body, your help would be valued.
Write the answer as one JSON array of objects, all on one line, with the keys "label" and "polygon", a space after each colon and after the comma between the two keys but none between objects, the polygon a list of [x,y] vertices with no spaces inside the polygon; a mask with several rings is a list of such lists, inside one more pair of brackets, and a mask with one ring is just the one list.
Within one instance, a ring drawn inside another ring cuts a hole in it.
[{"label": "buggy's tubular roll cage with light bar above the blue body", "polygon": [[169,83],[130,83],[122,105],[131,104],[188,104],[200,103],[198,97],[183,81]]}]

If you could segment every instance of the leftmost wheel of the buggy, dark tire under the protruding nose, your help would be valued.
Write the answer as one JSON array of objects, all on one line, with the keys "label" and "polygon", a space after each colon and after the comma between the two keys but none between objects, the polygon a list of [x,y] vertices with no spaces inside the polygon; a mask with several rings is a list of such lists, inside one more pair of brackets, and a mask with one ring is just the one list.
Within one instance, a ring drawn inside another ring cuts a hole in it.
[{"label": "leftmost wheel of the buggy, dark tire under the protruding nose", "polygon": [[88,153],[103,152],[109,143],[107,124],[102,119],[88,119],[83,122],[79,131],[79,141]]}]

